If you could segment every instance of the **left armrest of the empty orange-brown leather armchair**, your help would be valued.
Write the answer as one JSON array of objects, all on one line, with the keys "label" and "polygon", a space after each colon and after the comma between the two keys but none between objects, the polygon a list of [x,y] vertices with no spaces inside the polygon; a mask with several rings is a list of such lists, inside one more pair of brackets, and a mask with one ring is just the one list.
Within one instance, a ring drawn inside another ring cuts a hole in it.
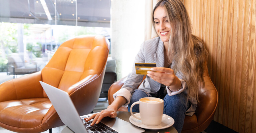
[{"label": "left armrest of the empty orange-brown leather armchair", "polygon": [[0,84],[0,102],[26,98],[43,98],[43,88],[39,81],[42,81],[41,71]]}]

